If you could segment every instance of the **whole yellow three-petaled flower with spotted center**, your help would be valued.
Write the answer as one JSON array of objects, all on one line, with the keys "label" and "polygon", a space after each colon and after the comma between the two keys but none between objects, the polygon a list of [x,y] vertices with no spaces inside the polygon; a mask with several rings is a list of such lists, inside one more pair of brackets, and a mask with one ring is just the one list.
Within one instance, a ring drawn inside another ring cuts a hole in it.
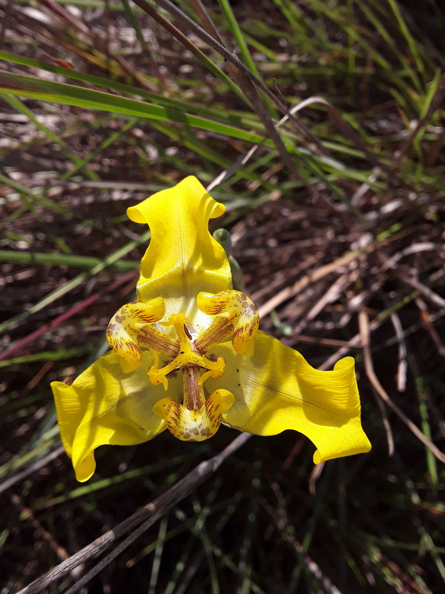
[{"label": "whole yellow three-petaled flower with spotted center", "polygon": [[256,435],[300,431],[316,445],[316,464],[370,450],[354,359],[318,371],[257,332],[255,305],[232,290],[227,256],[208,231],[222,213],[192,176],[128,208],[151,229],[138,302],[110,321],[111,352],[72,386],[51,384],[78,481],[93,475],[99,445],[139,444],[165,429],[201,441],[221,422]]}]

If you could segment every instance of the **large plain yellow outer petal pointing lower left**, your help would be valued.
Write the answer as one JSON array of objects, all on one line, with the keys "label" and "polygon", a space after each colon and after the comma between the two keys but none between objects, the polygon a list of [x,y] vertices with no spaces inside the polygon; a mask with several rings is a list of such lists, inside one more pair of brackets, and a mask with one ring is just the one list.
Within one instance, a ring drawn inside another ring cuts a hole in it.
[{"label": "large plain yellow outer petal pointing lower left", "polygon": [[[142,353],[142,365],[131,374],[120,368],[119,355],[97,359],[71,386],[51,384],[63,447],[72,458],[78,481],[94,473],[94,449],[99,445],[134,445],[151,440],[166,424],[151,412],[160,398],[147,370],[151,352]],[[182,396],[182,378],[169,378],[168,396]]]}]

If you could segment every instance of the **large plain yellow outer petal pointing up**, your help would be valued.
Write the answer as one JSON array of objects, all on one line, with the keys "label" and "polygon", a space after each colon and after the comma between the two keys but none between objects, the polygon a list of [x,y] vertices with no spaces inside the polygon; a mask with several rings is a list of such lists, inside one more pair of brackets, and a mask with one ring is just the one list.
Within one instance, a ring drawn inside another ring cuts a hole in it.
[{"label": "large plain yellow outer petal pointing up", "polygon": [[196,326],[196,333],[212,319],[196,307],[196,295],[231,289],[227,256],[208,231],[209,219],[224,210],[193,176],[127,210],[131,220],[147,223],[151,230],[150,245],[141,261],[138,301],[161,295],[167,318],[183,312]]}]

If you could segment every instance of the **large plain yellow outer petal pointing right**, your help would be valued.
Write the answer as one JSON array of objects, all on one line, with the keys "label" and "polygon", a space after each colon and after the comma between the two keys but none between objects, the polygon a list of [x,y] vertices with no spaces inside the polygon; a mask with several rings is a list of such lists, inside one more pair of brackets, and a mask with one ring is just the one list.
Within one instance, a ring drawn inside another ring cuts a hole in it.
[{"label": "large plain yellow outer petal pointing right", "polygon": [[237,355],[230,343],[212,353],[225,358],[225,374],[208,379],[206,387],[225,388],[235,398],[223,423],[256,435],[300,431],[316,445],[316,464],[370,450],[360,423],[352,357],[338,361],[333,371],[319,371],[263,332],[256,333],[251,358]]}]

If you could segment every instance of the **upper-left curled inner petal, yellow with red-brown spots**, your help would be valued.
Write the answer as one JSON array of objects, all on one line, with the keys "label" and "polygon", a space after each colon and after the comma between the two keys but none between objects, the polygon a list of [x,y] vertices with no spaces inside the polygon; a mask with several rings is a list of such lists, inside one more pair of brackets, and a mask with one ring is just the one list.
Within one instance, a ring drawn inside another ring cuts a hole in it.
[{"label": "upper-left curled inner petal, yellow with red-brown spots", "polygon": [[161,320],[166,312],[162,297],[148,303],[128,303],[118,309],[107,327],[107,341],[120,356],[124,373],[134,371],[141,364],[141,346],[151,343],[164,352],[176,354],[179,343],[167,334],[153,328],[152,323]]}]

